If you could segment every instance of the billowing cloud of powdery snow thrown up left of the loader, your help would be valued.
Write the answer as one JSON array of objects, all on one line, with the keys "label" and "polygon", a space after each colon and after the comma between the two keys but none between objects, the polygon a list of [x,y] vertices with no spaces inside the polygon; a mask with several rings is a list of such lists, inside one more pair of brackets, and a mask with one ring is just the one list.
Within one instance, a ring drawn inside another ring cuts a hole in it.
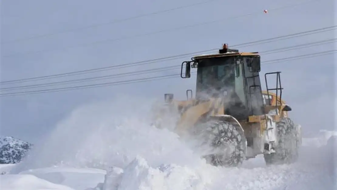
[{"label": "billowing cloud of powdery snow thrown up left of the loader", "polygon": [[150,166],[201,163],[177,134],[150,125],[152,104],[153,100],[120,96],[79,107],[13,171],[54,165],[125,167],[136,156],[146,159]]}]

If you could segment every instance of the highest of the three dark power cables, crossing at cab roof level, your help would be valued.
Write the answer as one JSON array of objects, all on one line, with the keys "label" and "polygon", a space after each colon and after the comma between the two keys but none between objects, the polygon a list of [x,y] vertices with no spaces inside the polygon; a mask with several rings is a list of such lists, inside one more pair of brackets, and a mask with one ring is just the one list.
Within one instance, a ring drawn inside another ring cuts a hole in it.
[{"label": "highest of the three dark power cables, crossing at cab roof level", "polygon": [[[330,31],[330,30],[335,30],[336,27],[337,27],[337,25],[334,25],[334,26],[329,26],[329,27],[324,27],[324,28],[319,28],[319,29],[314,29],[314,30],[308,30],[308,31],[303,31],[303,32],[298,32],[298,33],[293,33],[293,34],[287,34],[287,35],[282,35],[282,36],[277,36],[277,37],[272,37],[272,38],[267,38],[267,39],[256,40],[256,41],[253,41],[253,42],[238,44],[238,45],[234,45],[234,46],[231,46],[231,47],[242,48],[242,47],[248,47],[248,46],[252,46],[252,45],[256,45],[256,44],[264,44],[264,43],[283,40],[283,39],[301,37],[301,36],[326,32],[326,31]],[[87,70],[67,72],[67,73],[60,73],[60,74],[54,74],[54,75],[46,75],[46,76],[40,76],[40,77],[30,77],[30,78],[16,79],[16,80],[7,80],[7,81],[0,82],[0,84],[12,84],[12,83],[35,81],[35,80],[41,80],[41,79],[59,78],[59,77],[65,77],[65,76],[80,75],[80,74],[84,74],[84,73],[93,73],[93,72],[100,72],[100,71],[106,71],[106,70],[112,70],[112,69],[119,69],[119,68],[129,67],[129,66],[144,65],[144,64],[149,64],[149,63],[153,63],[153,62],[165,61],[166,59],[173,59],[173,58],[178,59],[178,58],[182,58],[182,57],[185,57],[185,56],[191,56],[191,55],[195,55],[195,54],[211,52],[211,51],[215,51],[215,50],[218,50],[218,49],[219,48],[214,48],[214,49],[209,49],[209,50],[204,50],[204,51],[196,51],[196,52],[167,56],[167,57],[161,57],[161,58],[156,58],[156,59],[151,59],[151,60],[136,61],[136,62],[131,62],[131,63],[124,63],[124,64],[119,64],[119,65],[112,65],[112,66],[99,67],[99,68],[94,68],[94,69],[87,69]]]}]

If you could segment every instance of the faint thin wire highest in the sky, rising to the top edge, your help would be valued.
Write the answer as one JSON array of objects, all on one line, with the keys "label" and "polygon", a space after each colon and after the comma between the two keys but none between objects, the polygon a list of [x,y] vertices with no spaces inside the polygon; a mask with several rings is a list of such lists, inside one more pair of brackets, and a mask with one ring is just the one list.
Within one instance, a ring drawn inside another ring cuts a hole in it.
[{"label": "faint thin wire highest in the sky, rising to the top edge", "polygon": [[[170,8],[170,9],[160,10],[160,11],[146,13],[146,14],[142,14],[142,15],[137,15],[137,16],[133,16],[133,17],[127,17],[127,18],[123,18],[123,19],[114,19],[114,20],[111,20],[111,21],[105,22],[105,23],[92,24],[92,25],[88,25],[88,26],[84,26],[84,27],[72,28],[72,29],[67,29],[67,30],[58,31],[58,32],[39,34],[39,35],[34,35],[34,36],[30,36],[30,37],[25,37],[25,38],[8,40],[8,41],[5,41],[5,42],[2,42],[1,44],[16,43],[16,42],[21,42],[21,41],[25,41],[25,40],[29,40],[29,39],[34,39],[34,38],[41,38],[41,37],[53,36],[53,35],[57,35],[57,34],[63,34],[63,33],[68,33],[68,32],[73,32],[73,31],[78,31],[78,30],[86,30],[86,29],[90,29],[90,28],[96,28],[96,27],[99,27],[99,26],[105,26],[105,25],[110,25],[110,24],[114,24],[114,23],[120,23],[120,22],[138,19],[138,18],[142,18],[142,17],[158,15],[158,14],[164,13],[164,12],[171,12],[171,11],[174,11],[174,10],[188,8],[188,7],[192,7],[192,6],[196,6],[196,5],[202,5],[202,4],[210,3],[210,2],[213,2],[213,1],[219,1],[219,0],[207,0],[207,1],[203,1],[203,2],[192,3],[192,4],[188,4],[188,5],[175,7],[175,8]],[[305,3],[307,3],[307,2],[311,2],[311,1],[306,1]]]}]

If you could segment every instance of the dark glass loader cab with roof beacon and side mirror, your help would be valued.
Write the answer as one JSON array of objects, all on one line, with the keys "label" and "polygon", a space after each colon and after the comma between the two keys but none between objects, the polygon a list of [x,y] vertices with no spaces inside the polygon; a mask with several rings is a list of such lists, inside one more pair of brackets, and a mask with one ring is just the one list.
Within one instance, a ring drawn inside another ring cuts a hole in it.
[{"label": "dark glass loader cab with roof beacon and side mirror", "polygon": [[219,54],[196,56],[192,61],[183,62],[181,77],[189,78],[191,68],[197,69],[196,99],[223,97],[224,113],[239,120],[263,114],[257,53],[239,53],[224,46]]}]

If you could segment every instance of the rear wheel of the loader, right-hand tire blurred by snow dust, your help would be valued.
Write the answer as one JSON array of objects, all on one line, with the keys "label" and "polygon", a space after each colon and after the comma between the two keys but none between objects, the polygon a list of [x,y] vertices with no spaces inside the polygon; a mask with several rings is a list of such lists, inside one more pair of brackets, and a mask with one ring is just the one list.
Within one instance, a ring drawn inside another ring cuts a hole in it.
[{"label": "rear wheel of the loader, right-hand tire blurred by snow dust", "polygon": [[265,154],[265,162],[271,164],[291,164],[297,161],[299,151],[298,132],[290,118],[282,118],[277,124],[277,140],[275,153]]}]

